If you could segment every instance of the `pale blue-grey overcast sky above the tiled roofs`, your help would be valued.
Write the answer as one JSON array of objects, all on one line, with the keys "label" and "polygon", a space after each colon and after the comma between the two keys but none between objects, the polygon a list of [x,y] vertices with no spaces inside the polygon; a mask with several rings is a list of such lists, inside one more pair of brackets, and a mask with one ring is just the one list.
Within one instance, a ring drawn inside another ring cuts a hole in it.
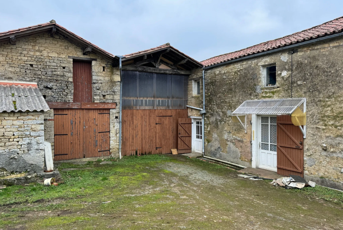
[{"label": "pale blue-grey overcast sky above the tiled roofs", "polygon": [[0,31],[54,19],[114,55],[165,43],[202,61],[343,16],[342,1],[9,1]]}]

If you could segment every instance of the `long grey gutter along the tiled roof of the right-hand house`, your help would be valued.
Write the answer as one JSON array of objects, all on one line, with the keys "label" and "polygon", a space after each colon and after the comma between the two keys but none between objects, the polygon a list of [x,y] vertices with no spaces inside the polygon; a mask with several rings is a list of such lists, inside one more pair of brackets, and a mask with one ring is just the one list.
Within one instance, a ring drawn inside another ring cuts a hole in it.
[{"label": "long grey gutter along the tiled roof of the right-hand house", "polygon": [[286,50],[286,49],[293,49],[293,48],[297,48],[297,47],[300,47],[300,46],[311,45],[311,44],[316,43],[318,41],[324,41],[324,40],[333,39],[333,38],[336,38],[336,37],[342,37],[342,34],[343,34],[343,32],[341,32],[339,34],[329,35],[329,36],[326,36],[326,37],[316,38],[314,40],[304,41],[304,42],[299,43],[299,44],[294,44],[294,45],[290,45],[290,46],[286,46],[286,47],[281,47],[281,48],[265,51],[265,52],[262,52],[262,53],[256,53],[254,55],[249,55],[249,56],[246,56],[246,57],[237,58],[237,59],[234,59],[234,60],[229,60],[229,61],[218,63],[218,64],[215,64],[215,65],[210,65],[210,66],[204,67],[203,70],[212,69],[212,68],[217,67],[217,66],[226,65],[226,64],[233,63],[233,62],[237,62],[237,61],[243,61],[243,60],[250,59],[250,58],[260,57],[260,56],[263,56],[263,55],[279,52],[279,51]]}]

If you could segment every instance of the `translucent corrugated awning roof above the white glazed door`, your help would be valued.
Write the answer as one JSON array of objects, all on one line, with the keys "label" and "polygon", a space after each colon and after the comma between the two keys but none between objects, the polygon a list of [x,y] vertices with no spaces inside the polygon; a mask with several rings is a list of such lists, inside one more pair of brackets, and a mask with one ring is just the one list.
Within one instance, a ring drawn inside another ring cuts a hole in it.
[{"label": "translucent corrugated awning roof above the white glazed door", "polygon": [[303,104],[305,98],[284,98],[269,100],[244,101],[233,113],[237,114],[281,114],[291,115],[298,106]]}]

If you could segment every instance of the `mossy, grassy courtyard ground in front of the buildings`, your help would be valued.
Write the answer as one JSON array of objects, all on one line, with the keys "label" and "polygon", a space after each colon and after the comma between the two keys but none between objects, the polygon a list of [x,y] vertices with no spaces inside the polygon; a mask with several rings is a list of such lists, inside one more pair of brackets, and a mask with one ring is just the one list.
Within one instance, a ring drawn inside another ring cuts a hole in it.
[{"label": "mossy, grassy courtyard ground in front of the buildings", "polygon": [[180,155],[98,163],[62,164],[59,186],[3,189],[0,229],[343,229],[338,191],[278,189]]}]

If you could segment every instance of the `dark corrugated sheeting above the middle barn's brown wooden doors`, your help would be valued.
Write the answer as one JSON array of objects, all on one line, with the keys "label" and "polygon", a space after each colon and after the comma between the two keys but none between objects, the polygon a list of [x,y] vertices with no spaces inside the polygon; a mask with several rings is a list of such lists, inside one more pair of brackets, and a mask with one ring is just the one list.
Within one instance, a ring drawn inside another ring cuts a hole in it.
[{"label": "dark corrugated sheeting above the middle barn's brown wooden doors", "polygon": [[122,71],[123,109],[186,109],[188,76]]}]

